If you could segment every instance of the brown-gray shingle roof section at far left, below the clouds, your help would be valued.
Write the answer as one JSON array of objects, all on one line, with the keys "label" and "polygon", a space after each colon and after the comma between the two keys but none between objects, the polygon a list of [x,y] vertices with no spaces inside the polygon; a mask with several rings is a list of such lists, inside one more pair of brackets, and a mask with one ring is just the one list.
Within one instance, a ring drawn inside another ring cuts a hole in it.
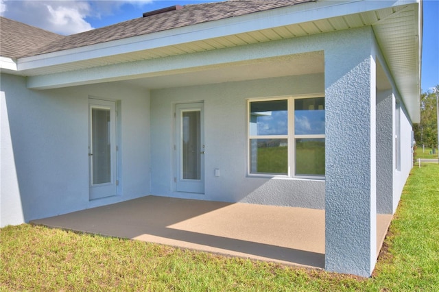
[{"label": "brown-gray shingle roof section at far left, below the clouds", "polygon": [[0,17],[0,56],[19,58],[64,36]]}]

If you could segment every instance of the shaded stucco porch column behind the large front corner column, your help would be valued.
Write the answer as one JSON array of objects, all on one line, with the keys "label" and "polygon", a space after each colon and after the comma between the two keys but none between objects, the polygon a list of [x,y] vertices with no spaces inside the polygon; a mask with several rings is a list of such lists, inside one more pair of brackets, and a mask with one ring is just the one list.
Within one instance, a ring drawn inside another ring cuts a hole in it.
[{"label": "shaded stucco porch column behind the large front corner column", "polygon": [[394,108],[392,90],[377,92],[377,212],[379,214],[394,212]]}]

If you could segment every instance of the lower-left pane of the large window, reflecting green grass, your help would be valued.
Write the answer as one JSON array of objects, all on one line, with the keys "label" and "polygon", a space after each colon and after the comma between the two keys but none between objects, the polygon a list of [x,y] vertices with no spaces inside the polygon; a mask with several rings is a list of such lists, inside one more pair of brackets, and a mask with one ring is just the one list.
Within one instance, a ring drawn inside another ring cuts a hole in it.
[{"label": "lower-left pane of the large window, reflecting green grass", "polygon": [[250,173],[287,174],[287,139],[250,139]]}]

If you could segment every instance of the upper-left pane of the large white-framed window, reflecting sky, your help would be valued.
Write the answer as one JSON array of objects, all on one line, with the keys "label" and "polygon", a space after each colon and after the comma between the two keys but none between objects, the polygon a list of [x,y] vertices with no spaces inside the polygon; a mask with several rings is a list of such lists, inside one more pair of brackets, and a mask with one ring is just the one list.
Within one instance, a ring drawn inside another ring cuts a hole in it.
[{"label": "upper-left pane of the large white-framed window, reflecting sky", "polygon": [[250,136],[287,134],[288,102],[286,99],[250,103]]}]

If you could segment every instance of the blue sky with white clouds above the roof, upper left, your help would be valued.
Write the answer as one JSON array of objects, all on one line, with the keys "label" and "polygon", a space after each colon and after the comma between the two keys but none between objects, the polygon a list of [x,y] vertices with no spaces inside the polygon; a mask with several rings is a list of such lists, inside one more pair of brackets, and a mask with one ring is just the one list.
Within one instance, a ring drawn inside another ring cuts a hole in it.
[{"label": "blue sky with white clouds above the roof, upper left", "polygon": [[0,0],[1,16],[56,32],[76,34],[93,29],[90,18],[100,19],[119,10],[124,4],[135,6],[151,0]]}]

